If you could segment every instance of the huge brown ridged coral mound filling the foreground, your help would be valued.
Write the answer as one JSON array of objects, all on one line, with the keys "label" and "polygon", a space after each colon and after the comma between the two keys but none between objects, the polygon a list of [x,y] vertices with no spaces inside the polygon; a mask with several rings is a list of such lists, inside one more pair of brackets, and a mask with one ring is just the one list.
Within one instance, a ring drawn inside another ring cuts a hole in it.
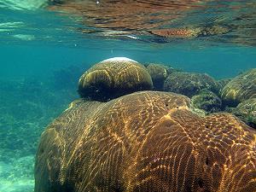
[{"label": "huge brown ridged coral mound filling the foreground", "polygon": [[255,191],[255,131],[190,108],[157,91],[73,102],[42,134],[35,192]]}]

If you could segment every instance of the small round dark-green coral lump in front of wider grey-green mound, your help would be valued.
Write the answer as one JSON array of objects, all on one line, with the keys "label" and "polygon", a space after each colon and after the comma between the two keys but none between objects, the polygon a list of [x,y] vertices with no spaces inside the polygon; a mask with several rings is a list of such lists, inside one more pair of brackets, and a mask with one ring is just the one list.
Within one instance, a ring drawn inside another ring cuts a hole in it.
[{"label": "small round dark-green coral lump in front of wider grey-green mound", "polygon": [[208,113],[221,111],[221,99],[211,90],[201,90],[198,95],[191,98],[195,108],[200,108]]}]

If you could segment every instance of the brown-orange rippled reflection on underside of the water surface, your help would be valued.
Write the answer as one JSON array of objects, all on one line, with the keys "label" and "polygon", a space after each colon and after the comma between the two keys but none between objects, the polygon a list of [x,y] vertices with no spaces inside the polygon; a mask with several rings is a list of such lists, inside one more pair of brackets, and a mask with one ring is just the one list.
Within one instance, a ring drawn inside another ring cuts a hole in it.
[{"label": "brown-orange rippled reflection on underside of the water surface", "polygon": [[74,16],[84,25],[81,32],[101,30],[97,34],[104,37],[133,34],[168,42],[170,38],[217,36],[207,40],[253,45],[255,7],[253,1],[67,0],[49,1],[48,9]]}]

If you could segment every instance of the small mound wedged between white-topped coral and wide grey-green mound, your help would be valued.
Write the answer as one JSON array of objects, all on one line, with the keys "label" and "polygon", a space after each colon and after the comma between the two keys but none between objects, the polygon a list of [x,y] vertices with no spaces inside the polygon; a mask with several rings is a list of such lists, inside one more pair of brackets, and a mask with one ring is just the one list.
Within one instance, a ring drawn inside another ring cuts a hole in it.
[{"label": "small mound wedged between white-topped coral and wide grey-green mound", "polygon": [[147,65],[147,70],[151,76],[155,90],[163,90],[166,78],[170,73],[174,71],[172,67],[167,67],[154,63],[149,63]]}]

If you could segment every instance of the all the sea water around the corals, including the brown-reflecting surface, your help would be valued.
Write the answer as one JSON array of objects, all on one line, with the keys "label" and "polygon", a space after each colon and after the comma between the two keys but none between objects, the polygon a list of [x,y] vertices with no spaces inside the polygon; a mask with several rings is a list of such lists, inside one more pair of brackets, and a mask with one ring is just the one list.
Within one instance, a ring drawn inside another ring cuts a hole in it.
[{"label": "all the sea water around the corals, including the brown-reflecting surface", "polygon": [[256,67],[255,10],[255,1],[0,0],[0,192],[33,191],[40,134],[79,97],[90,66],[125,56],[232,78]]}]

